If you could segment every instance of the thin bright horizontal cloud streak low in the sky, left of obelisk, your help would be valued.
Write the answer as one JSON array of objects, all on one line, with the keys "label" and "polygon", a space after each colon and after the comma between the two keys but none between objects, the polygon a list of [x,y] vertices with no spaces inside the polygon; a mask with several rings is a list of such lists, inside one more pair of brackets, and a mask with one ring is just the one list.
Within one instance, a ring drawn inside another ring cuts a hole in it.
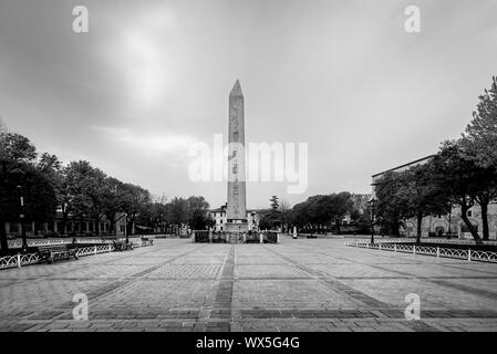
[{"label": "thin bright horizontal cloud streak low in the sky, left of obelisk", "polygon": [[174,133],[143,133],[125,127],[92,126],[92,129],[106,134],[115,142],[139,148],[149,153],[187,153],[188,148],[197,142],[189,135]]}]

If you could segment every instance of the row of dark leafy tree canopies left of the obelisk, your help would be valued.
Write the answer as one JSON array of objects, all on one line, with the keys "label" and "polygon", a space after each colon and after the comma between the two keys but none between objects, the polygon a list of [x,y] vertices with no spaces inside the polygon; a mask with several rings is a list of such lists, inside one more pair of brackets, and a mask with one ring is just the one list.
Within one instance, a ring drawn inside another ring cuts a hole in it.
[{"label": "row of dark leafy tree canopies left of the obelisk", "polygon": [[[18,222],[22,186],[25,220],[49,221],[58,207],[62,210],[63,232],[71,220],[106,217],[110,232],[115,232],[117,215],[127,215],[128,232],[137,222],[156,228],[164,225],[189,225],[204,229],[209,220],[209,205],[201,196],[154,200],[137,185],[107,176],[86,160],[64,165],[55,155],[39,154],[29,138],[11,133],[0,122],[0,240],[7,249],[6,222]],[[96,233],[100,228],[96,228]]]}]

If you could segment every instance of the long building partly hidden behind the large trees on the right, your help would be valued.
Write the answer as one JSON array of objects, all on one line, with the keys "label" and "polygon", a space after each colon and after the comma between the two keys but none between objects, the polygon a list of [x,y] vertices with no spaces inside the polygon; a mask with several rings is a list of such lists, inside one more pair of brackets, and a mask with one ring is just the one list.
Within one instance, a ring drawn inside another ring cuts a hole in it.
[{"label": "long building partly hidden behind the large trees on the right", "polygon": [[[401,165],[385,171],[375,174],[372,176],[373,197],[376,198],[375,187],[377,180],[386,173],[400,173],[408,169],[412,166],[423,165],[429,162],[434,155],[429,155],[412,163]],[[482,209],[478,205],[475,205],[468,210],[467,217],[472,225],[478,230],[482,236]],[[490,204],[488,206],[488,229],[489,238],[497,240],[497,204]],[[447,233],[456,235],[459,239],[473,239],[472,233],[466,227],[466,223],[460,218],[460,207],[453,206],[452,210],[447,215],[434,215],[423,218],[421,235],[422,237],[434,237],[438,235],[446,236]],[[401,235],[406,237],[416,237],[417,222],[415,219],[405,221],[405,227],[401,227]]]}]

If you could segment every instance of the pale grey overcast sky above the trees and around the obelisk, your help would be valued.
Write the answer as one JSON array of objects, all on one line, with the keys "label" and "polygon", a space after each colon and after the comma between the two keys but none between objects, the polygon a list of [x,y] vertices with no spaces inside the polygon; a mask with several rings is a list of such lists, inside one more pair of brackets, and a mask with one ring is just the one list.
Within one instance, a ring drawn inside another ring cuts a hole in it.
[{"label": "pale grey overcast sky above the trees and around the obelisk", "polygon": [[[89,33],[72,31],[77,4]],[[2,0],[0,116],[63,162],[218,207],[226,185],[190,181],[188,147],[226,137],[239,79],[247,142],[309,144],[307,191],[248,184],[249,208],[369,192],[463,132],[497,74],[496,14],[495,0]]]}]

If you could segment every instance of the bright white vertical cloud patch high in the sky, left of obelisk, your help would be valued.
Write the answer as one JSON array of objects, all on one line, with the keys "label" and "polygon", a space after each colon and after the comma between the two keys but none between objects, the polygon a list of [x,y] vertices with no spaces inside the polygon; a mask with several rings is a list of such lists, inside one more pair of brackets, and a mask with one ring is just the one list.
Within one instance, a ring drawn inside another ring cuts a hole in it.
[{"label": "bright white vertical cloud patch high in the sky, left of obelisk", "polygon": [[172,85],[170,45],[164,41],[165,33],[176,28],[176,13],[168,7],[147,6],[111,21],[114,30],[101,49],[105,70],[116,73],[132,107],[157,107]]}]

